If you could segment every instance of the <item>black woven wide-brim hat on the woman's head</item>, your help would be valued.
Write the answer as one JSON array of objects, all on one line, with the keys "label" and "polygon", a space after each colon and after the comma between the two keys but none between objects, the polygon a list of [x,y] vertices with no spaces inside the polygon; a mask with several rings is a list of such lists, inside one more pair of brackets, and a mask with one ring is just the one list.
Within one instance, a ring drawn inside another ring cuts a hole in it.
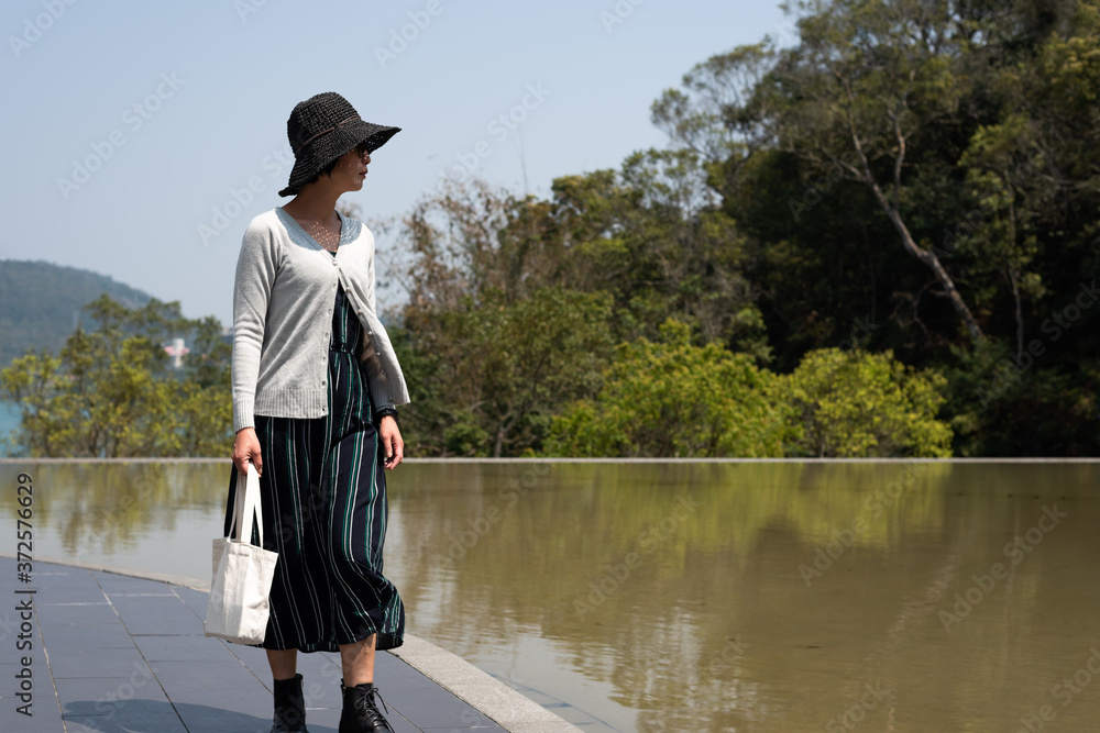
[{"label": "black woven wide-brim hat on the woman's head", "polygon": [[360,143],[365,142],[367,152],[373,153],[400,131],[400,127],[365,122],[355,108],[334,91],[298,102],[286,121],[294,168],[286,188],[278,195],[296,195],[327,165],[355,149]]}]

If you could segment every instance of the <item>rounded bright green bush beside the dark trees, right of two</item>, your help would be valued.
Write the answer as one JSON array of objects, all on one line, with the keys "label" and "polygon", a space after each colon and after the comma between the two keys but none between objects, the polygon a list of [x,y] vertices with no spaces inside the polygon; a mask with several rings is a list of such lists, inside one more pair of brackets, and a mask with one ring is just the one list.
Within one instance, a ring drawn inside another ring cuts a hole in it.
[{"label": "rounded bright green bush beside the dark trees, right of two", "polygon": [[936,419],[946,379],[908,368],[890,352],[810,352],[783,381],[800,426],[789,455],[952,455],[950,426]]}]

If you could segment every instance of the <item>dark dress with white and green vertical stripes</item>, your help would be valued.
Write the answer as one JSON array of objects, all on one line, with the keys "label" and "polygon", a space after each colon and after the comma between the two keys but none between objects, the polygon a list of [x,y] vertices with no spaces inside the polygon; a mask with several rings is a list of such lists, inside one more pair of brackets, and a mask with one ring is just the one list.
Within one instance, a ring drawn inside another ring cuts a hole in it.
[{"label": "dark dress with white and green vertical stripes", "polygon": [[[337,652],[375,633],[378,649],[402,644],[405,607],[382,574],[386,476],[358,356],[362,337],[340,286],[329,342],[329,414],[255,415],[264,547],[278,553],[267,635],[255,646]],[[233,469],[226,534],[235,488]]]}]

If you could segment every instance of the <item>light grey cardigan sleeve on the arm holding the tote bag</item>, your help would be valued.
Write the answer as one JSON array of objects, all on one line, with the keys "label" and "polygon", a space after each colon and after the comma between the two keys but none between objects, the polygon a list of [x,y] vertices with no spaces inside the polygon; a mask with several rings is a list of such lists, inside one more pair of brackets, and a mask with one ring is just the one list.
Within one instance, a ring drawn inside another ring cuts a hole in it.
[{"label": "light grey cardigan sleeve on the arm holding the tote bag", "polygon": [[275,275],[278,271],[275,236],[255,220],[241,243],[233,284],[233,431],[254,427],[256,382],[264,325]]}]

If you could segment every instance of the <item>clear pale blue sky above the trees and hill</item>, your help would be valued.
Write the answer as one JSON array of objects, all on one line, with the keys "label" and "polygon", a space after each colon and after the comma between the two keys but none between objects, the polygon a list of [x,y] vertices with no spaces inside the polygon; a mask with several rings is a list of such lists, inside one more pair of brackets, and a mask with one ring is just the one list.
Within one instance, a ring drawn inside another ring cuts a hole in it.
[{"label": "clear pale blue sky above the trees and hill", "polygon": [[[778,3],[728,0],[9,0],[0,259],[91,269],[229,325],[241,235],[288,200],[298,101],[339,91],[403,127],[346,197],[364,218],[409,211],[481,141],[477,175],[521,192],[522,143],[528,190],[547,196],[559,176],[663,147],[661,91],[783,23]],[[492,124],[502,114],[521,121]],[[261,190],[240,207],[250,181]],[[399,299],[383,291],[380,309]]]}]

